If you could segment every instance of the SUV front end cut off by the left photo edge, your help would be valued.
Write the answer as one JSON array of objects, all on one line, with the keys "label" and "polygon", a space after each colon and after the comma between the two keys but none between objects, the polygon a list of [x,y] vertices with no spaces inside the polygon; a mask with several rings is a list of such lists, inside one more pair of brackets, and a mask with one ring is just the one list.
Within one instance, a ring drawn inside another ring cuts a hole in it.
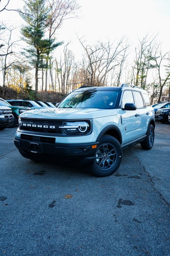
[{"label": "SUV front end cut off by the left photo edge", "polygon": [[0,130],[4,130],[12,122],[14,122],[12,109],[6,106],[0,106]]}]

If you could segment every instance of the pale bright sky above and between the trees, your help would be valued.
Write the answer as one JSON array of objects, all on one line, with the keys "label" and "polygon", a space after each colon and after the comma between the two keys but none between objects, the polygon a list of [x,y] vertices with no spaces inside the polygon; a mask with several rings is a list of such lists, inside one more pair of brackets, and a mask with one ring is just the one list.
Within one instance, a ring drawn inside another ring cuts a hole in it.
[{"label": "pale bright sky above and between the trees", "polygon": [[[1,0],[2,4],[6,0]],[[82,58],[82,46],[77,39],[85,36],[86,40],[110,41],[120,39],[122,35],[128,37],[131,48],[138,43],[146,33],[157,35],[161,42],[161,49],[165,53],[170,51],[170,0],[77,0],[81,6],[79,18],[67,19],[57,31],[57,41],[65,44],[71,40],[71,49],[77,60]],[[17,3],[17,4],[16,4]],[[2,5],[1,4],[1,5]],[[22,8],[22,0],[10,0],[8,9]],[[22,18],[17,12],[3,11],[0,21],[8,25],[20,27]],[[17,36],[17,32],[15,33]],[[19,36],[19,30],[18,30]],[[56,49],[55,55],[60,56],[63,46]]]}]

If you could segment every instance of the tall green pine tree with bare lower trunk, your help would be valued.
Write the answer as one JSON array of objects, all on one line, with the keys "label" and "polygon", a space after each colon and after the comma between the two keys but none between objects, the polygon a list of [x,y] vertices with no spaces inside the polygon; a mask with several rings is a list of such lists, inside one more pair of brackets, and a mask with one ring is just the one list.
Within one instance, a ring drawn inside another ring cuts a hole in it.
[{"label": "tall green pine tree with bare lower trunk", "polygon": [[44,39],[46,30],[48,8],[46,0],[28,0],[25,2],[22,18],[27,23],[21,29],[24,41],[29,47],[24,49],[25,56],[30,64],[36,69],[35,72],[35,96],[38,91],[38,71],[45,67],[45,60],[48,58],[52,49],[55,49],[61,42],[55,43],[55,39]]}]

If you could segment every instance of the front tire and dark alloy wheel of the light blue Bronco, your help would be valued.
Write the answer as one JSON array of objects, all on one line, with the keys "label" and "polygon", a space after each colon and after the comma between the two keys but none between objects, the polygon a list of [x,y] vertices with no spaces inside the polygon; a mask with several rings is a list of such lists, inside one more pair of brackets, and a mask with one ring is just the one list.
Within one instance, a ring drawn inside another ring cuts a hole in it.
[{"label": "front tire and dark alloy wheel of the light blue Bronco", "polygon": [[98,177],[112,175],[122,162],[122,147],[117,139],[104,135],[96,150],[92,173]]}]

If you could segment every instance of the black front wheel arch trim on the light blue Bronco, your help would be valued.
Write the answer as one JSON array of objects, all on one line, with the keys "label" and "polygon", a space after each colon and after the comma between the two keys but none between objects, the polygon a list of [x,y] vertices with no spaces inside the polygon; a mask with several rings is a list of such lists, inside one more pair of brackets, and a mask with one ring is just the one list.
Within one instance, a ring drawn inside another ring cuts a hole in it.
[{"label": "black front wheel arch trim on the light blue Bronco", "polygon": [[119,130],[119,128],[116,125],[109,125],[107,127],[105,127],[100,134],[98,135],[98,138],[96,139],[96,141],[100,141],[100,139],[103,137],[103,135],[110,135],[113,136],[115,139],[118,140],[118,142],[120,144],[122,144],[122,135],[121,135],[121,131]]}]

